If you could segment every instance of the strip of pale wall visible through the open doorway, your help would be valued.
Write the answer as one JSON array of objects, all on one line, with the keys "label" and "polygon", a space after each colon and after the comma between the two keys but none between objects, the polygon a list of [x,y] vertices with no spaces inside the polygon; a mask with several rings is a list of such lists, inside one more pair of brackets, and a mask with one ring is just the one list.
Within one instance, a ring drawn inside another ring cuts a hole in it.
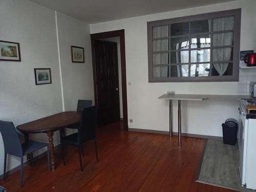
[{"label": "strip of pale wall visible through the open doorway", "polygon": [[118,62],[118,83],[119,83],[119,99],[120,99],[120,118],[123,118],[123,97],[122,97],[122,73],[121,73],[121,52],[120,37],[103,38],[100,40],[117,43],[117,62]]}]

